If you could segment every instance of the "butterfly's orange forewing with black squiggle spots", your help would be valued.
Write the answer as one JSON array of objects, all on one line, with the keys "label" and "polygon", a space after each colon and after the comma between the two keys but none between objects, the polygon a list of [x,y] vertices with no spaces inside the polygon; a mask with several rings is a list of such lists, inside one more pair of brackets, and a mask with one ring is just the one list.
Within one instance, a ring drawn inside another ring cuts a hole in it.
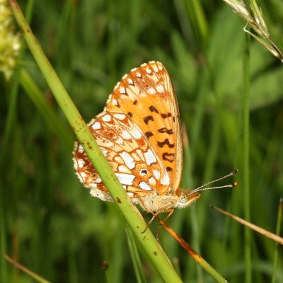
[{"label": "butterfly's orange forewing with black squiggle spots", "polygon": [[137,125],[168,172],[168,190],[178,190],[183,166],[180,117],[173,84],[163,65],[149,62],[132,69],[115,86],[105,112],[125,113]]}]

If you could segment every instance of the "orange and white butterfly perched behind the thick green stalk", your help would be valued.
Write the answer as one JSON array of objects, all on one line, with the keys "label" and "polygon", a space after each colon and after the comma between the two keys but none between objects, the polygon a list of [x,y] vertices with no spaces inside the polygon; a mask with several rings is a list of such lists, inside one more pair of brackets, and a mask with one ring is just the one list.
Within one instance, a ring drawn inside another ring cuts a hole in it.
[{"label": "orange and white butterfly perched behind the thick green stalk", "polygon": [[[200,197],[200,192],[180,188],[180,115],[173,83],[160,62],[142,64],[123,76],[88,127],[127,195],[146,212],[173,212]],[[91,195],[112,201],[79,141],[73,160]]]}]

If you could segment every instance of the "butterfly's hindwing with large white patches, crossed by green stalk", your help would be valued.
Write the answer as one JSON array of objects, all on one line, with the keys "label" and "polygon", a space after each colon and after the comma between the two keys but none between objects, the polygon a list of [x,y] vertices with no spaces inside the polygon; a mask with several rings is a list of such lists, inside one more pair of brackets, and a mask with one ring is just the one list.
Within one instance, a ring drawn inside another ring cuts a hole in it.
[{"label": "butterfly's hindwing with large white patches, crossed by green stalk", "polygon": [[[102,112],[88,127],[129,197],[136,200],[134,202],[139,202],[144,195],[151,195],[155,187],[161,192],[168,190],[169,177],[161,160],[127,115]],[[112,200],[78,141],[74,149],[74,167],[81,182],[91,188],[92,195],[101,200]]]}]

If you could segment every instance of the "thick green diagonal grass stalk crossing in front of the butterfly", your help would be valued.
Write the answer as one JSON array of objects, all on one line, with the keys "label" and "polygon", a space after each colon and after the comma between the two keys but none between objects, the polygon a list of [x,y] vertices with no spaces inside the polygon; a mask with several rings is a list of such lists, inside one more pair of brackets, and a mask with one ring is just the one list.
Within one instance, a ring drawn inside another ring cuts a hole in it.
[{"label": "thick green diagonal grass stalk crossing in front of the butterfly", "polygon": [[59,80],[47,57],[45,57],[45,54],[34,37],[28,23],[25,21],[21,8],[14,0],[9,0],[8,3],[10,4],[13,15],[22,30],[30,52],[33,54],[33,57],[37,62],[40,71],[42,71],[48,86],[50,86],[54,98],[57,100],[60,108],[62,108],[71,128],[74,130],[76,136],[88,154],[88,158],[98,171],[100,178],[108,188],[110,195],[115,201],[117,207],[120,209],[120,212],[122,212],[123,216],[125,216],[127,223],[131,227],[139,243],[144,248],[154,267],[156,267],[156,270],[165,282],[181,282],[180,277],[178,277],[177,272],[173,269],[171,262],[166,257],[166,254],[163,252],[151,231],[147,229],[144,233],[141,233],[146,227],[144,219],[139,213],[137,207],[135,207],[129,197],[127,197],[127,193],[117,180],[117,177],[112,171],[108,161],[100,151],[100,148],[96,144],[96,141],[89,131],[86,123],[83,122],[83,118],[79,111],[71,101],[71,98]]}]

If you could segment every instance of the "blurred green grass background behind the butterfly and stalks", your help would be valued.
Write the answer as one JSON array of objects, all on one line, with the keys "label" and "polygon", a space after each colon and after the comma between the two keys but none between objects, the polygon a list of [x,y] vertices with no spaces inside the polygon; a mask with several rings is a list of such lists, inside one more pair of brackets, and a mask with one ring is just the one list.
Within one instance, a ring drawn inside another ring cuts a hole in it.
[{"label": "blurred green grass background behind the butterfly and stalks", "polygon": [[[239,169],[238,187],[203,192],[167,223],[229,282],[243,282],[243,226],[209,204],[244,216],[245,23],[224,2],[211,0],[19,4],[23,11],[30,5],[33,32],[87,122],[130,69],[150,60],[166,66],[189,138],[182,186],[197,187]],[[282,1],[259,4],[272,39],[283,46]],[[40,103],[26,95],[21,68],[44,93],[57,122],[48,121]],[[283,195],[282,78],[279,60],[251,40],[248,209],[254,224],[272,232]],[[136,282],[125,222],[114,204],[91,197],[76,178],[74,134],[28,50],[13,79],[6,83],[2,76],[0,83],[0,282],[34,282],[3,253],[52,282]],[[156,233],[157,227],[154,223],[151,230]],[[160,241],[184,282],[212,282],[164,230]],[[249,245],[253,282],[270,282],[275,243],[252,232]],[[161,282],[140,252],[147,282]],[[282,247],[278,266],[277,282],[283,282]]]}]

